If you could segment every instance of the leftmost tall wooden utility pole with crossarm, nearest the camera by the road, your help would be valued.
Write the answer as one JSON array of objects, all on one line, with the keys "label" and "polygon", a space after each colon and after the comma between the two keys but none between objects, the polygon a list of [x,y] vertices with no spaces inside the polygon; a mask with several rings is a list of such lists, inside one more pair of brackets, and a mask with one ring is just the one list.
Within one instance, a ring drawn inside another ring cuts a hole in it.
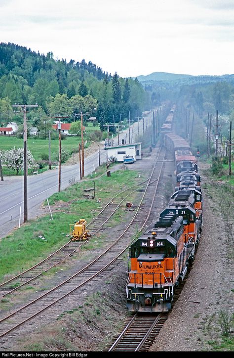
[{"label": "leftmost tall wooden utility pole with crossarm, nearest the camera by the road", "polygon": [[23,107],[24,112],[24,223],[28,221],[28,194],[27,194],[27,175],[28,175],[28,157],[27,157],[27,107],[38,107],[38,104],[13,104],[12,107]]}]

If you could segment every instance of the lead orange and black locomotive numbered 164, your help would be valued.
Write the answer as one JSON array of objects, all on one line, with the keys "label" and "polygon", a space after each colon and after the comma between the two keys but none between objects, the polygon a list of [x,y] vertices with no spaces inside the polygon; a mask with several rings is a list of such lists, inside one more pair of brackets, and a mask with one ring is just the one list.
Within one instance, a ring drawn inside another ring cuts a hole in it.
[{"label": "lead orange and black locomotive numbered 164", "polygon": [[129,249],[127,307],[131,312],[168,311],[184,249],[183,218],[167,215]]}]

